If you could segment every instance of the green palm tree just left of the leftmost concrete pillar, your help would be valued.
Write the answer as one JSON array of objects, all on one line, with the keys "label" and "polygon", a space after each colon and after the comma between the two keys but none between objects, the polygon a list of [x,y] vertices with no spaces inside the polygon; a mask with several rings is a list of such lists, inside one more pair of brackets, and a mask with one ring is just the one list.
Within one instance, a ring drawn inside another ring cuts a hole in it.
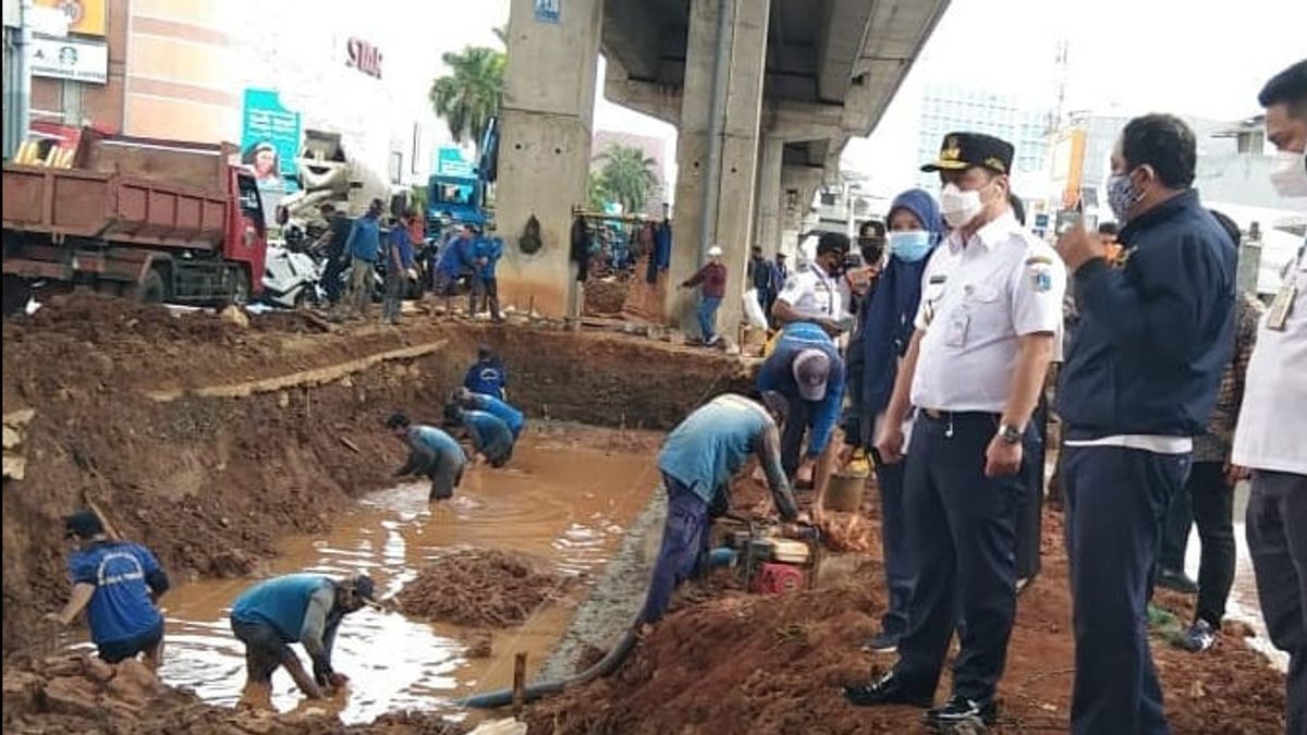
[{"label": "green palm tree just left of the leftmost concrete pillar", "polygon": [[481,137],[503,99],[503,51],[468,46],[442,56],[450,73],[431,82],[431,107],[450,126],[454,141],[472,141],[481,157]]}]

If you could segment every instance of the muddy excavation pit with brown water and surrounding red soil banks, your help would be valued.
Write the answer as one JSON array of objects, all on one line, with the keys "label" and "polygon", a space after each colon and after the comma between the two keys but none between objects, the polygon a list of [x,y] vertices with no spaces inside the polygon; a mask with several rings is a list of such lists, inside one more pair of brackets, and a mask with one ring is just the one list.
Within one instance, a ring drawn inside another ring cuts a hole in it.
[{"label": "muddy excavation pit with brown water and surrounding red soil banks", "polygon": [[[389,477],[403,447],[382,421],[396,408],[438,420],[481,344],[508,366],[531,424],[507,468],[472,470],[454,501],[429,505],[423,484]],[[481,715],[454,702],[507,685],[514,654],[527,653],[531,679],[596,660],[657,549],[661,432],[752,383],[737,360],[643,337],[293,314],[240,326],[80,294],[4,323],[3,381],[7,425],[31,412],[5,447],[24,472],[3,497],[4,730],[131,735],[460,732]],[[114,684],[86,659],[82,628],[43,620],[68,594],[61,517],[86,500],[174,579],[162,685],[132,684],[139,672]],[[737,487],[737,509],[769,505],[755,483]],[[868,492],[848,543],[869,553],[817,590],[763,598],[719,573],[610,676],[531,705],[532,735],[919,731],[915,710],[839,694],[893,664],[860,651],[884,611],[876,506]],[[1060,517],[1046,514],[1044,534],[1000,732],[1067,730]],[[348,696],[302,704],[278,674],[280,714],[238,713],[243,653],[226,609],[252,579],[293,570],[367,572],[387,604],[444,620],[361,611],[337,641]],[[1154,640],[1176,734],[1283,731],[1283,676],[1240,633],[1200,657]]]}]

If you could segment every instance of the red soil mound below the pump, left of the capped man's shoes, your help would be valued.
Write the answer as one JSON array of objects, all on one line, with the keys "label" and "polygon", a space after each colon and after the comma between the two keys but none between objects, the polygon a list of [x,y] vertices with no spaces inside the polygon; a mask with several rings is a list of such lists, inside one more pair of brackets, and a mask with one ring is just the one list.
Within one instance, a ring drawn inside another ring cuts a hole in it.
[{"label": "red soil mound below the pump, left of the capped man's shoes", "polygon": [[838,687],[867,676],[857,642],[874,633],[878,607],[868,586],[732,592],[681,609],[612,677],[533,708],[531,732],[873,732]]}]

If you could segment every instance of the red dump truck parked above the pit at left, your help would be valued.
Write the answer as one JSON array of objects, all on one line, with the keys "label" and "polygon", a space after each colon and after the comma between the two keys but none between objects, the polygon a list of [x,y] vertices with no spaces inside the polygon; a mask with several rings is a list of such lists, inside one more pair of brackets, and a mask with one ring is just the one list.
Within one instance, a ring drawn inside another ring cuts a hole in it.
[{"label": "red dump truck parked above the pit at left", "polygon": [[5,313],[37,286],[195,306],[259,293],[267,229],[235,152],[88,128],[68,167],[5,163]]}]

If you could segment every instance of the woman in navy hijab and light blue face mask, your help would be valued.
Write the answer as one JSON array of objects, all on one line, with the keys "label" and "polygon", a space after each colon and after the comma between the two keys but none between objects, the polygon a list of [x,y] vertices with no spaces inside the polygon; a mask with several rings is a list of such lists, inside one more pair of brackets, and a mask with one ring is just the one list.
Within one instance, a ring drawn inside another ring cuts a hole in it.
[{"label": "woman in navy hijab and light blue face mask", "polygon": [[[880,420],[889,405],[898,375],[899,360],[912,337],[912,320],[921,299],[921,273],[931,252],[944,239],[944,221],[935,199],[920,188],[904,191],[894,199],[889,224],[889,262],[876,289],[863,303],[859,318],[861,375],[857,378],[857,409],[861,413],[863,446],[874,442]],[[912,589],[912,566],[908,558],[903,521],[903,463],[886,464],[872,450],[876,462],[876,484],[881,489],[881,536],[885,555],[885,578],[890,604],[881,619],[881,633],[867,642],[867,649],[887,653],[895,650],[898,638],[907,630],[907,603]]]}]

